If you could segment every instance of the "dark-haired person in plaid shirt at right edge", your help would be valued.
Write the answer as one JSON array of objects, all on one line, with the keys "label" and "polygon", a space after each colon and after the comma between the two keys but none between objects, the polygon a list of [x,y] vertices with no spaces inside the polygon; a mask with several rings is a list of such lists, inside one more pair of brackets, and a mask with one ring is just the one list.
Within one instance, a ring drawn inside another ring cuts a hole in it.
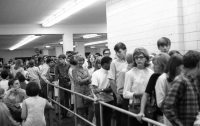
[{"label": "dark-haired person in plaid shirt at right edge", "polygon": [[177,76],[163,101],[162,110],[173,126],[193,126],[199,112],[198,51],[183,56],[184,73]]}]

